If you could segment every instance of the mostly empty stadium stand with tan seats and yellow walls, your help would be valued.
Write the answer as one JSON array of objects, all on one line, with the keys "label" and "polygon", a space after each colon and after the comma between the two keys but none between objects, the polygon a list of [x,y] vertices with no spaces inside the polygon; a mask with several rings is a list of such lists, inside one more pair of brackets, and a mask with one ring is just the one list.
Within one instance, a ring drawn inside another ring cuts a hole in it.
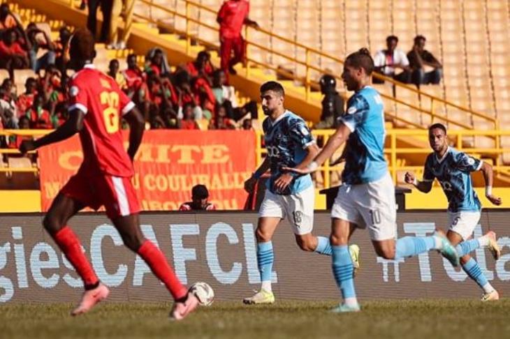
[{"label": "mostly empty stadium stand with tan seats and yellow walls", "polygon": [[[86,13],[76,9],[78,2],[50,0],[51,6],[42,6],[16,0],[10,6],[25,23],[35,21],[50,29],[55,39],[64,17],[66,24],[84,22]],[[136,52],[138,64],[143,66],[142,56],[148,47],[160,45],[171,65],[191,61],[206,48],[213,65],[218,66],[215,13],[220,4],[221,0],[137,0],[136,23],[128,43],[133,50],[105,50],[104,45],[97,45],[96,63],[106,70],[110,59],[119,59],[123,70],[127,54]],[[457,147],[495,164],[496,184],[509,186],[510,175],[504,165],[510,163],[510,156],[504,148],[510,146],[510,133],[505,132],[510,123],[510,85],[505,63],[508,47],[503,43],[509,17],[502,13],[508,13],[506,1],[252,1],[250,17],[261,29],[245,32],[248,66],[238,66],[232,84],[242,89],[238,95],[245,103],[258,98],[262,82],[290,79],[282,80],[287,106],[316,121],[321,100],[316,80],[325,72],[339,77],[345,54],[362,46],[375,53],[384,47],[388,34],[398,36],[399,47],[407,52],[414,36],[423,34],[426,48],[444,65],[442,82],[423,85],[419,91],[388,81],[374,85],[385,101],[387,127],[411,129],[409,133],[398,129],[388,133],[388,161],[394,179],[400,180],[402,171],[418,170],[418,164],[423,163],[424,152],[416,150],[426,148],[427,142],[423,132],[412,129],[423,130],[432,122],[443,121],[453,131]],[[22,89],[22,79],[31,75],[16,70],[17,88]],[[349,96],[342,82],[337,84],[342,95]],[[483,132],[495,129],[500,131]],[[262,147],[258,154],[262,156]],[[323,169],[324,186],[330,184],[330,171],[337,169],[328,166]]]}]

